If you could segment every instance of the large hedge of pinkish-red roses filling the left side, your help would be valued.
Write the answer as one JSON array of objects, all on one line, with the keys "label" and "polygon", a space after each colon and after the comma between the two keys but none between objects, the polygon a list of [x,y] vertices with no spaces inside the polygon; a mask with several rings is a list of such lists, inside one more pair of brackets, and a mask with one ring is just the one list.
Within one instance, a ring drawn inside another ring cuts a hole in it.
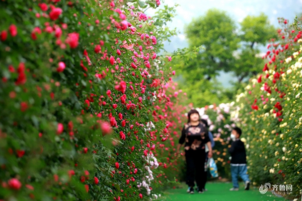
[{"label": "large hedge of pinkish-red roses filling the left side", "polygon": [[181,124],[159,4],[0,2],[0,199],[158,197]]}]

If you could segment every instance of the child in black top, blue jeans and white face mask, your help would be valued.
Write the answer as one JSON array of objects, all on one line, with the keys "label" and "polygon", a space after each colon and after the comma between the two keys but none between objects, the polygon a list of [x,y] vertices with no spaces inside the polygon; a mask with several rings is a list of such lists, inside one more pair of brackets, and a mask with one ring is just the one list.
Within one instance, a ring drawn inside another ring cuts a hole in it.
[{"label": "child in black top, blue jeans and white face mask", "polygon": [[241,129],[239,127],[235,127],[232,130],[231,139],[233,140],[231,147],[229,148],[229,152],[232,156],[231,159],[231,173],[232,173],[232,181],[233,188],[230,190],[239,190],[238,184],[238,175],[245,182],[245,189],[250,189],[250,179],[247,174],[247,161],[246,161],[246,151],[244,147],[244,143],[240,140]]}]

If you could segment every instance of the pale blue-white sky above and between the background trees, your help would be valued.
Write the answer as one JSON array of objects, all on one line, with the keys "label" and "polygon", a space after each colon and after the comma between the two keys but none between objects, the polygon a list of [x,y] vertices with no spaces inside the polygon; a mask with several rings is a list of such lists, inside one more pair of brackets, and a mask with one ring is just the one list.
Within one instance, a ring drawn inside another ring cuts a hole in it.
[{"label": "pale blue-white sky above and between the background trees", "polygon": [[[185,25],[189,24],[193,18],[204,15],[209,9],[226,11],[237,23],[248,15],[257,16],[263,12],[275,27],[278,27],[278,17],[292,22],[296,14],[302,13],[302,0],[161,0],[160,8],[175,4],[179,5],[176,8],[177,16],[168,26],[172,29],[176,27],[180,33],[171,38],[171,43],[165,42],[168,52],[187,47],[184,35]],[[155,11],[147,10],[146,13],[152,16]],[[221,73],[217,79],[224,86],[230,86],[229,81],[232,80],[232,75]]]}]

